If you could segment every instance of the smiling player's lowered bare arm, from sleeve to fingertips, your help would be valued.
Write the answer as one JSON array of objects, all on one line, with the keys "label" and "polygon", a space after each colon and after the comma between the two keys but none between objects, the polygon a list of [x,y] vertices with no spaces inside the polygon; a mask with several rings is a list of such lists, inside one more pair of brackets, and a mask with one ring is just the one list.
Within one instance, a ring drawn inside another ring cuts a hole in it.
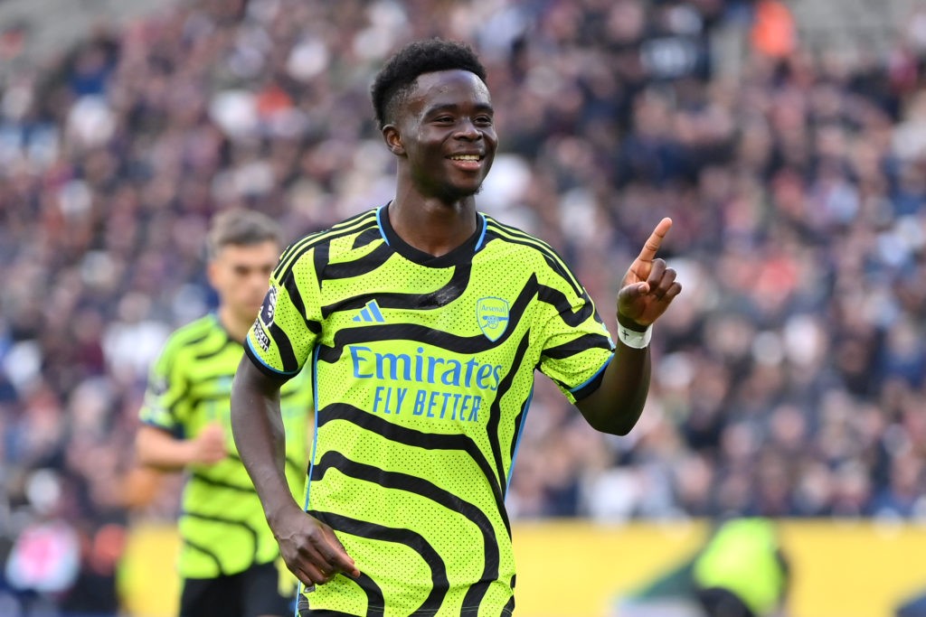
[{"label": "smiling player's lowered bare arm, from sleeve to fingertips", "polygon": [[309,516],[286,482],[286,437],[280,413],[282,380],[245,355],[232,382],[232,435],[257,488],[286,567],[304,584],[327,583],[339,573],[359,576],[332,528]]}]

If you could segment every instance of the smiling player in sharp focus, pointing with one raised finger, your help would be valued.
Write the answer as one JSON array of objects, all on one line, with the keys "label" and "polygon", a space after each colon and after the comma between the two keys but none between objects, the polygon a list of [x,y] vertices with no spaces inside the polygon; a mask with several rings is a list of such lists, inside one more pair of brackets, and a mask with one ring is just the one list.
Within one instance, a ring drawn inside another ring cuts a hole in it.
[{"label": "smiling player in sharp focus, pointing with one raised finger", "polygon": [[[232,430],[307,615],[507,615],[505,493],[534,369],[595,428],[626,434],[649,388],[650,325],[681,286],[657,249],[618,294],[615,346],[543,241],[476,209],[497,137],[485,70],[440,40],[372,87],[394,199],[295,242],[270,278],[232,389]],[[305,508],[283,476],[278,390],[311,364]]]}]

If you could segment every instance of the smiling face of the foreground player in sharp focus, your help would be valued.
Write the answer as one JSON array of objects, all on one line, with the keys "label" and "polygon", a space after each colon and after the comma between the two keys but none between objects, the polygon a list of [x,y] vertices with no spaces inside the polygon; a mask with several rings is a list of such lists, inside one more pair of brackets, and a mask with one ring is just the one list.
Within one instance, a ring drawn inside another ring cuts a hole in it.
[{"label": "smiling face of the foreground player in sharp focus", "polygon": [[479,191],[498,147],[489,89],[466,70],[420,75],[397,118],[411,179],[444,201]]}]

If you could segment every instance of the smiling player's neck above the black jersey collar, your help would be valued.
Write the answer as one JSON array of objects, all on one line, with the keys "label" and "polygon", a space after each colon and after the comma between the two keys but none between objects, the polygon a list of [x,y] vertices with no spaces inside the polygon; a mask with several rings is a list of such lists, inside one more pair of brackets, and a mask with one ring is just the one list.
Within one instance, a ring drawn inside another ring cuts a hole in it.
[{"label": "smiling player's neck above the black jersey collar", "polygon": [[436,199],[409,201],[397,196],[386,214],[399,238],[435,257],[450,253],[476,231],[476,200],[472,197],[445,204]]}]

